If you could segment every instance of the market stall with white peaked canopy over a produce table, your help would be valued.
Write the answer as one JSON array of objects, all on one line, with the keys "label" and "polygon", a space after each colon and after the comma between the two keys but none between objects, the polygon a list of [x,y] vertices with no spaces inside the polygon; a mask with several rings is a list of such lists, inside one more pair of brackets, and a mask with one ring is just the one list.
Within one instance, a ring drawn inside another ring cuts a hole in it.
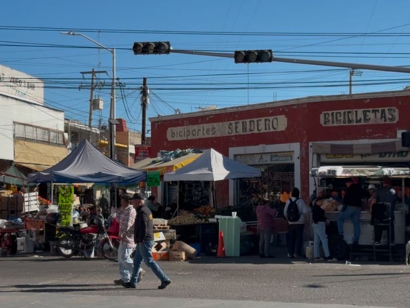
[{"label": "market stall with white peaked canopy over a produce table", "polygon": [[[181,211],[174,221],[170,221],[170,224],[173,224],[179,229],[182,236],[187,237],[190,235],[193,240],[199,244],[201,251],[209,250],[209,246],[217,243],[217,230],[218,228],[221,229],[221,223],[219,223],[218,226],[216,220],[213,219],[215,214],[217,214],[217,200],[215,198],[214,182],[251,177],[260,177],[260,170],[231,160],[214,149],[204,150],[202,155],[190,164],[165,174],[164,180],[209,181],[212,190],[213,206],[210,206],[211,204],[202,205],[193,208],[192,211]],[[231,232],[226,232],[224,236],[227,240],[230,238],[236,238],[239,241],[240,220],[239,218],[231,218],[232,220],[235,220],[235,223],[232,224],[233,228],[231,229]],[[180,227],[181,225],[185,227]],[[191,227],[188,227],[188,225],[191,225]],[[202,226],[198,227],[197,225]],[[225,226],[226,224],[222,225]],[[188,230],[188,228],[190,228],[190,230]],[[239,243],[237,243],[237,246],[239,246]],[[239,253],[239,247],[237,248],[237,252]]]}]

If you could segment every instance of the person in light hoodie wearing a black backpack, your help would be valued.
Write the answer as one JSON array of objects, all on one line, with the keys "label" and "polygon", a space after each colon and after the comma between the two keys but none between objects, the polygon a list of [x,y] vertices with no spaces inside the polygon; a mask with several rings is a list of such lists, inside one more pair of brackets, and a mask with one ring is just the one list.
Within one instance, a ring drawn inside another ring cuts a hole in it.
[{"label": "person in light hoodie wearing a black backpack", "polygon": [[310,212],[302,199],[299,199],[299,188],[293,188],[292,197],[286,201],[283,211],[284,217],[288,220],[288,257],[302,257],[302,240],[304,229],[304,215]]}]

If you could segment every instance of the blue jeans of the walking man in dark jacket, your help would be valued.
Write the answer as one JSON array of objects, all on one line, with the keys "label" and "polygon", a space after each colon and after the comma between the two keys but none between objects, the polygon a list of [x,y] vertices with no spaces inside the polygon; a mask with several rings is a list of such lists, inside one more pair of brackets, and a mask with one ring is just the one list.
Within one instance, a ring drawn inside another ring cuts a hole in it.
[{"label": "blue jeans of the walking man in dark jacket", "polygon": [[154,246],[154,241],[144,241],[142,243],[138,243],[137,247],[135,248],[135,256],[134,256],[134,271],[132,272],[130,283],[133,285],[137,284],[138,273],[140,271],[142,261],[145,261],[147,266],[151,268],[151,271],[158,277],[161,282],[166,282],[170,280],[167,275],[162,272],[162,269],[158,266],[158,264],[152,258],[152,247]]}]

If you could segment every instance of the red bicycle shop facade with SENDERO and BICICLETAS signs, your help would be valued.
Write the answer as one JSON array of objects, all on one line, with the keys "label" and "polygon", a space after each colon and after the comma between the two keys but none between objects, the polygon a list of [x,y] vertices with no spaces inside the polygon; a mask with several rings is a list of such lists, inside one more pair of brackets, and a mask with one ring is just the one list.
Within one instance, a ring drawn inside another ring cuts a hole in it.
[{"label": "red bicycle shop facade with SENDERO and BICICLETAS signs", "polygon": [[216,183],[218,204],[259,192],[285,201],[293,187],[309,199],[310,170],[329,164],[406,164],[400,134],[410,130],[410,92],[308,97],[151,118],[152,156],[214,148],[260,168],[262,178]]}]

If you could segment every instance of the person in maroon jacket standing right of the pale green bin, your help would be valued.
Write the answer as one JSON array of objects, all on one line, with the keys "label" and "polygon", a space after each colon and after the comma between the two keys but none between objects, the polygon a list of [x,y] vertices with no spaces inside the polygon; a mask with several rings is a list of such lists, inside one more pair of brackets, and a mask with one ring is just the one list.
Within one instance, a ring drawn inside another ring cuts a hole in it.
[{"label": "person in maroon jacket standing right of the pale green bin", "polygon": [[269,206],[269,200],[263,200],[256,207],[256,217],[259,230],[259,256],[261,258],[274,258],[269,255],[269,244],[274,228],[274,217],[278,216],[276,209]]}]

